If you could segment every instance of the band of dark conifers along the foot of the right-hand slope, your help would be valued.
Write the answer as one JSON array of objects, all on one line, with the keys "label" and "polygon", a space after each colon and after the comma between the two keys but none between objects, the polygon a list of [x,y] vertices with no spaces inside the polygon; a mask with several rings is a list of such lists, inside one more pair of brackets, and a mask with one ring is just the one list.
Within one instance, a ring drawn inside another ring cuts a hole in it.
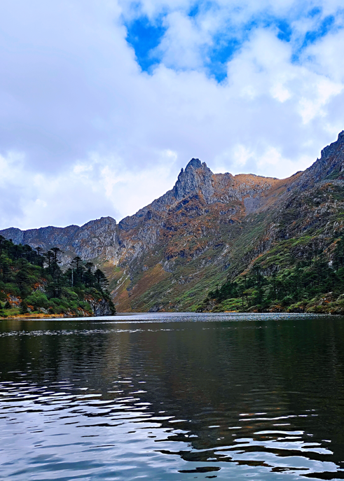
[{"label": "band of dark conifers along the foot of the right-hand slope", "polygon": [[257,306],[265,309],[280,303],[283,307],[297,302],[310,301],[317,295],[344,293],[344,240],[336,239],[332,258],[321,249],[310,246],[303,256],[294,258],[291,253],[281,257],[280,265],[270,266],[269,274],[262,260],[249,272],[209,291],[207,301],[220,303],[228,299],[240,299],[244,308]]}]

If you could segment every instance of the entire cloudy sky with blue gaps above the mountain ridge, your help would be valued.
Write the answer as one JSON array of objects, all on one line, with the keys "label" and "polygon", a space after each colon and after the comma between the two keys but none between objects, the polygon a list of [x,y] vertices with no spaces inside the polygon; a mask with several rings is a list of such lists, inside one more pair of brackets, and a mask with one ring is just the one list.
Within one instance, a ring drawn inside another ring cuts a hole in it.
[{"label": "entire cloudy sky with blue gaps above the mountain ridge", "polygon": [[344,130],[343,0],[1,0],[0,229],[134,214]]}]

